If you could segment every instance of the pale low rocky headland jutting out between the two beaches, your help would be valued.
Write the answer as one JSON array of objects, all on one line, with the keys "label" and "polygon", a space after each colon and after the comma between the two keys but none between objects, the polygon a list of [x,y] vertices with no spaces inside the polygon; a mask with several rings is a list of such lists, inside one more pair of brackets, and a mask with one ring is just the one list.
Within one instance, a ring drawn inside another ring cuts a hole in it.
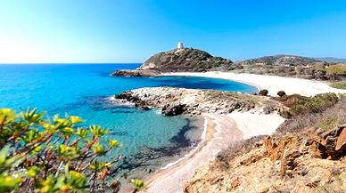
[{"label": "pale low rocky headland jutting out between the two beaches", "polygon": [[[162,114],[166,116],[200,115],[202,113],[227,114],[234,110],[249,111],[251,109],[268,114],[283,108],[279,102],[271,101],[268,97],[172,87],[136,89],[120,93],[115,96],[115,99],[134,102],[137,107],[160,108]],[[270,108],[267,108],[268,106]]]}]

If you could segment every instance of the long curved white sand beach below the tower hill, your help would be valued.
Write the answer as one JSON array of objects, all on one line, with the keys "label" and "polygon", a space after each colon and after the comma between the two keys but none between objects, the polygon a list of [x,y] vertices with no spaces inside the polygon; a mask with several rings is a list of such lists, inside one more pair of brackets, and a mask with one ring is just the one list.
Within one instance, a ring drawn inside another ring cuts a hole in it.
[{"label": "long curved white sand beach below the tower hill", "polygon": [[294,77],[235,74],[230,72],[177,72],[165,73],[162,75],[201,76],[234,80],[237,82],[254,85],[259,89],[267,89],[269,94],[273,96],[275,96],[278,91],[284,91],[287,94],[300,93],[301,95],[305,96],[312,96],[316,95],[317,93],[324,92],[346,93],[345,90],[332,88],[324,82]]}]

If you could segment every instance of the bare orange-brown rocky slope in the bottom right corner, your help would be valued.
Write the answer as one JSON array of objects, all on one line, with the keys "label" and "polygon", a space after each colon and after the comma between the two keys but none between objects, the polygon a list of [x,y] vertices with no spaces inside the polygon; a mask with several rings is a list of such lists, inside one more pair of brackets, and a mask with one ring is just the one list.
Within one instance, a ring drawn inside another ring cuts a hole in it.
[{"label": "bare orange-brown rocky slope in the bottom right corner", "polygon": [[267,137],[196,171],[185,192],[345,192],[345,131],[340,125]]}]

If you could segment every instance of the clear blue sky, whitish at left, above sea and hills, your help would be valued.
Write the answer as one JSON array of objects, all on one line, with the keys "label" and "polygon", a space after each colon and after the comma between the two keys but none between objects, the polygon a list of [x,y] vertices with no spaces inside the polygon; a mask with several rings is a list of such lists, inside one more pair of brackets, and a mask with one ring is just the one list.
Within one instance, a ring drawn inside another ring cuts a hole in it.
[{"label": "clear blue sky, whitish at left, above sea and hills", "polygon": [[346,58],[346,1],[0,0],[0,63],[143,62],[177,42],[231,60]]}]

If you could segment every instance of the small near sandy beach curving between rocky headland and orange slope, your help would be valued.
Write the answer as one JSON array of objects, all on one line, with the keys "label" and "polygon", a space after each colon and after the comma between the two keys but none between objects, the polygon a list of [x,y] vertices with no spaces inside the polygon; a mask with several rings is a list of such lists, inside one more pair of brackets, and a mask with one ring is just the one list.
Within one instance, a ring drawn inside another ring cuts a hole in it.
[{"label": "small near sandy beach curving between rocky headland and orange slope", "polygon": [[[284,118],[277,115],[258,115],[251,113],[234,113],[229,115],[205,114],[206,131],[199,146],[175,165],[148,176],[145,183],[151,193],[183,192],[185,181],[194,171],[213,161],[222,149],[227,149],[235,141],[249,138],[251,135],[274,133]],[[256,118],[257,117],[257,118]],[[251,123],[246,121],[251,119]],[[265,124],[263,123],[271,123]],[[261,129],[259,130],[259,125]]]}]

